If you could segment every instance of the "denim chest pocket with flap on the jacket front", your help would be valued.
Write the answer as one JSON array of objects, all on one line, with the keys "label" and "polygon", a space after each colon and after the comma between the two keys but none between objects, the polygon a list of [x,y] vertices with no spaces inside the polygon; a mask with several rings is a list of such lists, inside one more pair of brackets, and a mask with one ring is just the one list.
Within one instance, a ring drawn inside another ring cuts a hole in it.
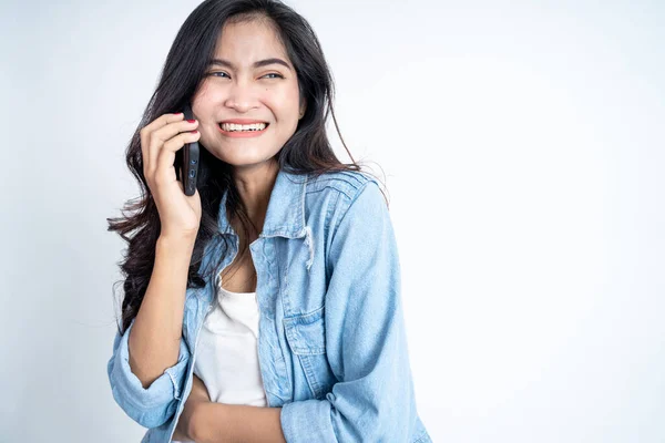
[{"label": "denim chest pocket with flap on the jacket front", "polygon": [[324,307],[284,319],[286,341],[297,356],[314,398],[321,400],[332,389],[336,378],[326,356]]}]

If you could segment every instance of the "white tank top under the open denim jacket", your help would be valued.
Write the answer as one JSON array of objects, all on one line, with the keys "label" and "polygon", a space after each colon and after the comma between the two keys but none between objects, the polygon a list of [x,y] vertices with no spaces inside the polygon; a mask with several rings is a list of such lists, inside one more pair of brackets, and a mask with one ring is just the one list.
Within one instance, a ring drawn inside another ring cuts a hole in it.
[{"label": "white tank top under the open denim jacket", "polygon": [[222,288],[219,278],[216,295],[198,334],[194,373],[213,402],[266,406],[258,365],[256,292],[231,292]]}]

